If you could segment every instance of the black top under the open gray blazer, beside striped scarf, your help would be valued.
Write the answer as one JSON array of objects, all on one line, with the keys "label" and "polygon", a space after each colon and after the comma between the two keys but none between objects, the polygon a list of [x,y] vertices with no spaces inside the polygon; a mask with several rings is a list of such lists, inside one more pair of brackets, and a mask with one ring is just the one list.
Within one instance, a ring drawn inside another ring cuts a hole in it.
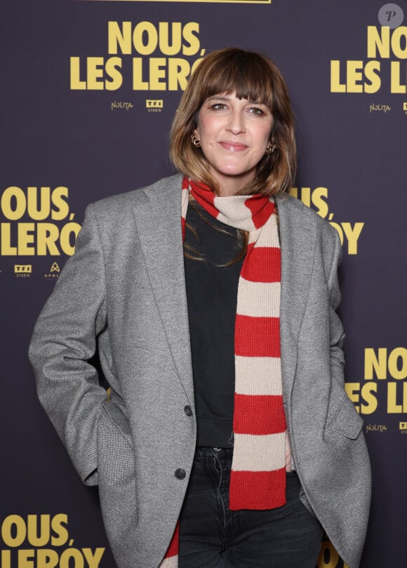
[{"label": "black top under the open gray blazer, beside striped scarf", "polygon": [[196,445],[232,447],[234,320],[243,259],[230,266],[219,265],[234,259],[241,244],[236,229],[214,219],[196,202],[188,206],[187,224],[195,229],[196,236],[187,229],[185,243],[204,257],[185,257],[198,426]]}]

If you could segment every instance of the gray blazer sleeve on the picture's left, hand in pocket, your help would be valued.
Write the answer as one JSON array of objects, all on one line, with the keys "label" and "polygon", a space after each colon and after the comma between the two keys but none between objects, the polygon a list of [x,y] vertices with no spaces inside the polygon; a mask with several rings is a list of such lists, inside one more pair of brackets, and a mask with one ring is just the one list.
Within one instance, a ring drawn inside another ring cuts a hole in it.
[{"label": "gray blazer sleeve on the picture's left, hand in pocket", "polygon": [[105,269],[90,205],[75,253],[41,311],[29,346],[41,405],[87,485],[97,482],[96,430],[107,398],[88,360],[106,325]]}]

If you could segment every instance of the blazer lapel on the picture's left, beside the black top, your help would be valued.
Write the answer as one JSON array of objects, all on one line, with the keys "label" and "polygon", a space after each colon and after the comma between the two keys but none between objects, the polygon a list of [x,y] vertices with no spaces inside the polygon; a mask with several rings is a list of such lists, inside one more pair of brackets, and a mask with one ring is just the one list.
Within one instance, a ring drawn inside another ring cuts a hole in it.
[{"label": "blazer lapel on the picture's left, beside the black top", "polygon": [[193,405],[181,231],[181,182],[180,176],[169,177],[142,190],[147,199],[133,208],[133,214],[168,346],[185,393]]}]

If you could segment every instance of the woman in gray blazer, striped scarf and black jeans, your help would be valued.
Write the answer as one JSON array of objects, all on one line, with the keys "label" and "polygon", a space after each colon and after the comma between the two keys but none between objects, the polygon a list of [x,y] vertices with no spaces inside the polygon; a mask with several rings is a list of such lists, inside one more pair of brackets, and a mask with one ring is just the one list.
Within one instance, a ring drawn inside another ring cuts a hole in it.
[{"label": "woman in gray blazer, striped scarf and black jeans", "polygon": [[[359,565],[370,501],[343,388],[335,230],[286,194],[275,65],[204,58],[171,131],[181,175],[90,205],[30,356],[119,568]],[[98,347],[111,394],[88,363]]]}]

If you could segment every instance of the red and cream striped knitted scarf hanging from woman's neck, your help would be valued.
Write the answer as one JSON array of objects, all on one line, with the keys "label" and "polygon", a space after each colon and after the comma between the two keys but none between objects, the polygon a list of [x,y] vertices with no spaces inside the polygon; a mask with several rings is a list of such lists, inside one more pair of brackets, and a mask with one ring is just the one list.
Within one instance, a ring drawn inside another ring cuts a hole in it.
[{"label": "red and cream striped knitted scarf hanging from woman's neck", "polygon": [[[286,503],[286,417],[280,360],[281,252],[274,201],[218,197],[182,182],[182,238],[189,192],[220,222],[248,231],[234,328],[234,448],[229,508],[273,509]],[[160,568],[178,566],[178,525]]]}]

